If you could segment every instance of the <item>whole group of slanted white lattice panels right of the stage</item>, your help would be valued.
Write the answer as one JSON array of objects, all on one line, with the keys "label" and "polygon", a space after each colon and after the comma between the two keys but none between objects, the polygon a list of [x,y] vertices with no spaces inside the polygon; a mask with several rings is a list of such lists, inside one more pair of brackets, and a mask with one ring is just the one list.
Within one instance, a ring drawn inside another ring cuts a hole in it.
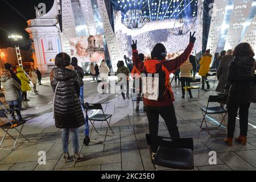
[{"label": "whole group of slanted white lattice panels right of the stage", "polygon": [[256,50],[256,1],[215,0],[207,48],[211,53],[247,42]]}]

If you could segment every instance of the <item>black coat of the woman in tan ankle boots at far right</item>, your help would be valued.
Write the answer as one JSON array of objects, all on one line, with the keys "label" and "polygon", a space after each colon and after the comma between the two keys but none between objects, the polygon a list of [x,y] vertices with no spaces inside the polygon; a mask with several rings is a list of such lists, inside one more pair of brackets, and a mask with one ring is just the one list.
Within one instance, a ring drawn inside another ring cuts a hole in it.
[{"label": "black coat of the woman in tan ankle boots at far right", "polygon": [[255,102],[255,60],[252,57],[236,57],[229,64],[227,82],[227,105]]}]

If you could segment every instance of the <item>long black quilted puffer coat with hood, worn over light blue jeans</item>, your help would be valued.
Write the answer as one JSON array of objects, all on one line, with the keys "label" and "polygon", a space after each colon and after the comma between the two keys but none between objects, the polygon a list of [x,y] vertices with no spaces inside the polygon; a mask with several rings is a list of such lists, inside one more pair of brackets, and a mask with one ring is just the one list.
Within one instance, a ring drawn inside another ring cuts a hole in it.
[{"label": "long black quilted puffer coat with hood, worn over light blue jeans", "polygon": [[[84,125],[85,119],[79,100],[79,76],[76,71],[69,68],[53,68],[51,76],[53,92],[56,89],[54,102],[55,126],[65,129]],[[57,82],[59,82],[58,86]]]}]

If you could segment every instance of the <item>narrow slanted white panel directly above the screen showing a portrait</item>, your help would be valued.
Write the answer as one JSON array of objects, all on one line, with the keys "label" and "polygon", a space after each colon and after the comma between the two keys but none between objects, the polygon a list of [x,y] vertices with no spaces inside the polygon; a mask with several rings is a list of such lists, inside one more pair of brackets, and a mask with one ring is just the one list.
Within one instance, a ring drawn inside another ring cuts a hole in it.
[{"label": "narrow slanted white panel directly above the screen showing a portrait", "polygon": [[94,22],[92,2],[90,0],[80,0],[80,4],[89,35],[96,35],[96,24]]}]

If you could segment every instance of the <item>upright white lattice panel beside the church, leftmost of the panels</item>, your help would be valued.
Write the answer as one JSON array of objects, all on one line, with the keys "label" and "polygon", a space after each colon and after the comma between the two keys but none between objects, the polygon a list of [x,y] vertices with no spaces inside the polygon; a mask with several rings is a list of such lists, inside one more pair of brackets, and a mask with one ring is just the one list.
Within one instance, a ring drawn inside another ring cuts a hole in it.
[{"label": "upright white lattice panel beside the church, leftmost of the panels", "polygon": [[70,55],[68,38],[76,37],[75,20],[72,11],[71,0],[62,1],[62,24],[63,24],[63,51]]}]

